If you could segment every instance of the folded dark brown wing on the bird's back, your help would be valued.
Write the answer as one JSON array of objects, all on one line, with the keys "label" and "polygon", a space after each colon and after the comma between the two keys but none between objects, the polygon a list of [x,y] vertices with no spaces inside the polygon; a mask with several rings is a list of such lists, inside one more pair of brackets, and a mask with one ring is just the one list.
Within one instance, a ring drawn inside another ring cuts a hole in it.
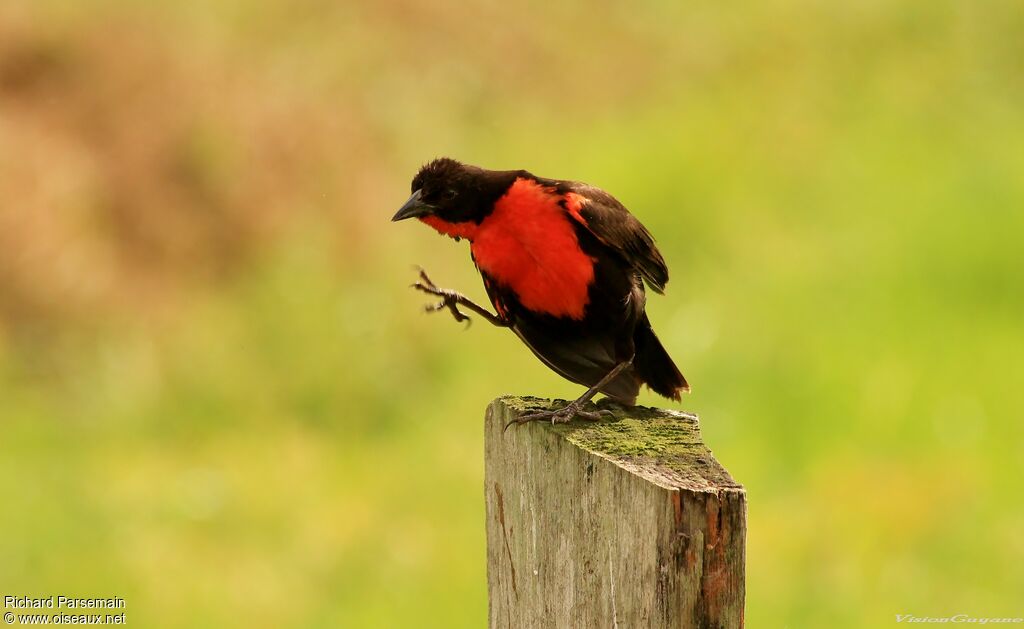
[{"label": "folded dark brown wing on the bird's back", "polygon": [[[593,185],[566,182],[569,193],[578,195],[581,201],[577,212],[570,214],[597,240],[614,251],[623,260],[644,279],[655,293],[662,293],[669,282],[669,267],[665,258],[654,246],[654,238],[618,201]],[[567,201],[572,207],[572,200]]]}]

